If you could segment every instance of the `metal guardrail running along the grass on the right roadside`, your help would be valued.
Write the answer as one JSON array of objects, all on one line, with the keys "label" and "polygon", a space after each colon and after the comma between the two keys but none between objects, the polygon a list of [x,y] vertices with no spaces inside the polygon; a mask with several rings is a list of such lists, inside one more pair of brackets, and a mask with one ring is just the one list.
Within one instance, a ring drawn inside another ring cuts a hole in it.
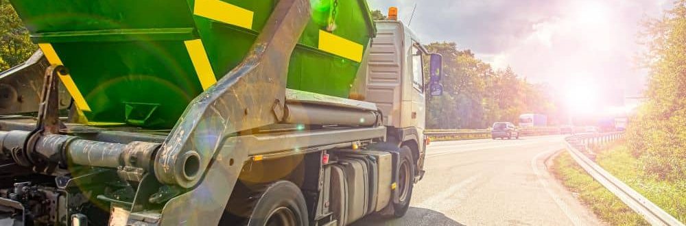
[{"label": "metal guardrail running along the grass on the right roadside", "polygon": [[[615,194],[617,198],[626,203],[629,208],[643,216],[648,223],[651,225],[684,226],[684,224],[674,218],[674,216],[659,208],[646,199],[646,197],[639,194],[639,192],[636,192],[636,190],[633,190],[591,160],[591,158],[595,158],[595,154],[591,150],[591,147],[611,142],[622,137],[624,137],[624,133],[615,132],[569,136],[565,140],[567,141],[567,147],[569,147],[567,151],[569,151],[571,157],[576,160],[581,168],[587,171],[595,181],[598,181],[602,186],[607,188],[607,190],[610,190],[610,192]],[[591,156],[591,158],[589,158],[589,156]]]}]

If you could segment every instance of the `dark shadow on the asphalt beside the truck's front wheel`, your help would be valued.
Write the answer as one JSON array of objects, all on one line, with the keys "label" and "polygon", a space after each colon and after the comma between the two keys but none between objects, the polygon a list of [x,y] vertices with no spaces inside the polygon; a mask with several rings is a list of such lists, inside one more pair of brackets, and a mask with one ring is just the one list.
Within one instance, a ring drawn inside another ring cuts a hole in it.
[{"label": "dark shadow on the asphalt beside the truck's front wheel", "polygon": [[447,225],[464,226],[453,219],[448,218],[440,212],[425,208],[410,207],[407,214],[402,218],[383,218],[379,216],[366,216],[355,222],[353,226],[362,225]]}]

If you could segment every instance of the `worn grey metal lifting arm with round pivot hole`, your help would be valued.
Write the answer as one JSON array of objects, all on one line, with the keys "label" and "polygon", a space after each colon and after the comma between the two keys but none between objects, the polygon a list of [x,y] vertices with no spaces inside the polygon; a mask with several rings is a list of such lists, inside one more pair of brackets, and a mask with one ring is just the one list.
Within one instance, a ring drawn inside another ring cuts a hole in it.
[{"label": "worn grey metal lifting arm with round pivot hole", "polygon": [[245,60],[186,108],[156,155],[159,181],[192,187],[230,134],[281,121],[288,59],[310,14],[309,1],[279,1]]}]

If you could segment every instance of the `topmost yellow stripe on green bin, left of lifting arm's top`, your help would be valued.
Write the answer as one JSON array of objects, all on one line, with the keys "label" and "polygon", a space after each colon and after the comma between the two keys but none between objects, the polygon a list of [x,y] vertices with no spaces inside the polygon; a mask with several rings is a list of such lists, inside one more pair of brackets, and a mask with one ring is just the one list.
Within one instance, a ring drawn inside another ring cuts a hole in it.
[{"label": "topmost yellow stripe on green bin, left of lifting arm's top", "polygon": [[252,16],[255,13],[220,0],[196,0],[193,5],[193,14],[252,29]]}]

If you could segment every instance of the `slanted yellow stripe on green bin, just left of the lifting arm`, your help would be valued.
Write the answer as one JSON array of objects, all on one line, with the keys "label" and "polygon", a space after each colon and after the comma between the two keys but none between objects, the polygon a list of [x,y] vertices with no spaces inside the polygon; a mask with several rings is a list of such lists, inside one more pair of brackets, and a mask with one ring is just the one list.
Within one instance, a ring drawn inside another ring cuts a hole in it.
[{"label": "slanted yellow stripe on green bin, just left of the lifting arm", "polygon": [[205,47],[202,46],[202,40],[187,40],[183,44],[186,45],[188,55],[191,56],[191,62],[193,62],[193,67],[196,68],[196,74],[198,74],[198,79],[200,79],[202,90],[207,90],[207,88],[217,83],[217,77],[215,77],[214,71],[212,71],[212,65],[207,58]]}]

